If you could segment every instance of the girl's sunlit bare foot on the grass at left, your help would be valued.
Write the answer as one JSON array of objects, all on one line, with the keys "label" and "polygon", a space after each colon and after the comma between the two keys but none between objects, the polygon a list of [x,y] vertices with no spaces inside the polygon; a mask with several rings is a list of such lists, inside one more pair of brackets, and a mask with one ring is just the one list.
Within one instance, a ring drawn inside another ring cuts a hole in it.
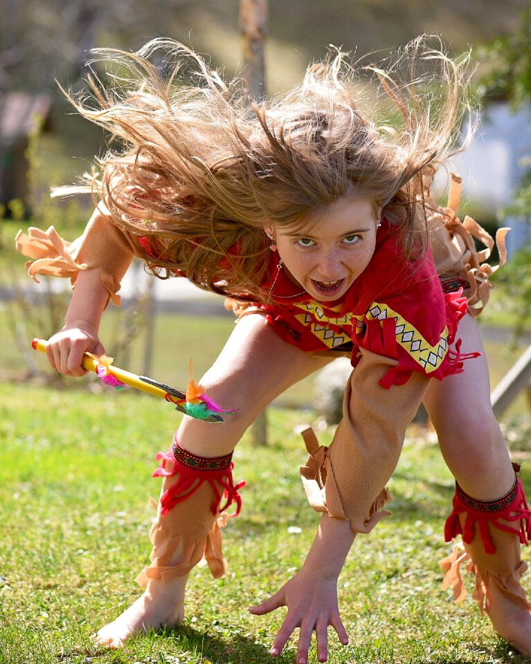
[{"label": "girl's sunlit bare foot on the grass at left", "polygon": [[159,627],[180,625],[188,574],[169,581],[150,580],[145,592],[123,614],[91,636],[96,645],[121,648],[131,636]]}]

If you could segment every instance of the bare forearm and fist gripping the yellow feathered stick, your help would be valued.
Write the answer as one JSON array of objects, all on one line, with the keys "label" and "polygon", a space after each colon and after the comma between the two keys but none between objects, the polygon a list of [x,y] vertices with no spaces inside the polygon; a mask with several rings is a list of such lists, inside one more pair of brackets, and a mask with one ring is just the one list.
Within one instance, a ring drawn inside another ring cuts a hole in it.
[{"label": "bare forearm and fist gripping the yellow feathered stick", "polygon": [[105,353],[98,330],[108,297],[98,268],[80,270],[64,326],[46,344],[48,362],[60,374],[84,376],[87,370],[81,366],[83,354]]}]

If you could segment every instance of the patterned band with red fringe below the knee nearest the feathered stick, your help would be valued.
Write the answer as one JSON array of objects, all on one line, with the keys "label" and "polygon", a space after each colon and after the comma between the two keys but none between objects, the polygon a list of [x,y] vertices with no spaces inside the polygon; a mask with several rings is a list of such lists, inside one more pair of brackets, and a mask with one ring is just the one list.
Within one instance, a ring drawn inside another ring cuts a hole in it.
[{"label": "patterned band with red fringe below the knee nearest the feathered stick", "polygon": [[[236,510],[231,517],[237,517],[242,508],[238,490],[245,486],[245,482],[234,483],[232,457],[232,454],[224,457],[196,457],[181,448],[174,437],[172,448],[156,455],[156,460],[161,461],[161,465],[153,472],[153,477],[172,477],[179,474],[179,481],[161,496],[161,515],[166,515],[172,507],[194,494],[204,482],[208,482],[214,492],[214,500],[210,505],[212,514],[215,516],[235,503]],[[222,500],[225,500],[225,504],[219,507]]]}]

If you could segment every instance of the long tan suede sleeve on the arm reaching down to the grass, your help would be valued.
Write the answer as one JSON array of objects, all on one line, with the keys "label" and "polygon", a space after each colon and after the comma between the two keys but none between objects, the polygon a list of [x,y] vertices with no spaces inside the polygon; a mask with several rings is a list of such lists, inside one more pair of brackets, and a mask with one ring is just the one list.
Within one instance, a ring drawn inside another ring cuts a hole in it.
[{"label": "long tan suede sleeve on the arm reaching down to the grass", "polygon": [[307,438],[309,459],[303,484],[316,511],[346,519],[354,533],[368,533],[388,513],[386,483],[398,463],[406,426],[424,397],[429,378],[413,373],[404,385],[379,381],[396,360],[361,349],[361,360],[345,389],[343,420],[330,448]]}]

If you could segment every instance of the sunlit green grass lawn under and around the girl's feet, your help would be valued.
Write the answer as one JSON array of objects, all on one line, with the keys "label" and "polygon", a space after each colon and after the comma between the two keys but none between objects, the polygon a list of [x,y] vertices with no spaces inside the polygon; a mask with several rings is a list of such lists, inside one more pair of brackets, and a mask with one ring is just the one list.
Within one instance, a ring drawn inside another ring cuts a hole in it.
[{"label": "sunlit green grass lawn under and around the girl's feet", "polygon": [[[311,414],[271,409],[271,445],[235,452],[242,514],[226,528],[231,572],[192,572],[181,629],[147,634],[120,652],[94,649],[89,635],[129,605],[147,561],[154,452],[178,416],[137,393],[91,394],[0,384],[0,662],[269,662],[283,611],[246,607],[276,591],[303,562],[318,515],[297,468],[305,459],[294,427]],[[453,482],[438,449],[411,430],[390,488],[393,517],[359,537],[339,580],[350,645],[332,637],[333,664],[522,662],[467,599],[439,589],[447,554],[442,524]],[[323,443],[331,431],[320,434]],[[529,475],[524,482],[529,483]],[[289,526],[301,532],[290,534]],[[292,641],[280,663],[294,661]],[[313,661],[316,661],[312,652]]]}]

